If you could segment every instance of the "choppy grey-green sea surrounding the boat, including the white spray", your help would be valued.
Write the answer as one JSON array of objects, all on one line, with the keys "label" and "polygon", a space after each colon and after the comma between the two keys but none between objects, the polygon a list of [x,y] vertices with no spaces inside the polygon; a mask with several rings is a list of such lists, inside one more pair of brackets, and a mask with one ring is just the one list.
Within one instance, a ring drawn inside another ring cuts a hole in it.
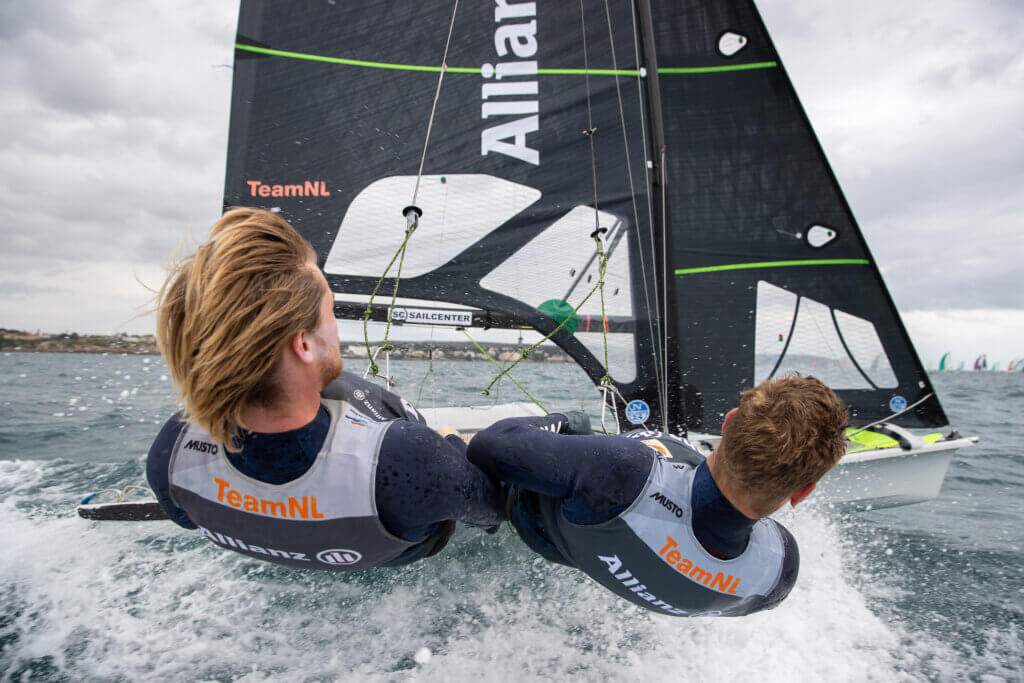
[{"label": "choppy grey-green sea surrounding the boat, including the white spray", "polygon": [[[350,360],[353,370],[365,362]],[[392,364],[421,405],[484,402],[494,367]],[[573,366],[524,364],[550,409],[596,393]],[[0,354],[3,680],[1021,680],[1024,374],[934,378],[958,452],[939,498],[778,519],[800,580],[778,608],[673,618],[461,528],[398,569],[290,569],[170,522],[90,522],[78,501],[144,478],[175,410],[156,356]],[[501,400],[517,400],[502,386]],[[494,393],[494,392],[493,392]],[[813,497],[812,497],[813,500]]]}]

